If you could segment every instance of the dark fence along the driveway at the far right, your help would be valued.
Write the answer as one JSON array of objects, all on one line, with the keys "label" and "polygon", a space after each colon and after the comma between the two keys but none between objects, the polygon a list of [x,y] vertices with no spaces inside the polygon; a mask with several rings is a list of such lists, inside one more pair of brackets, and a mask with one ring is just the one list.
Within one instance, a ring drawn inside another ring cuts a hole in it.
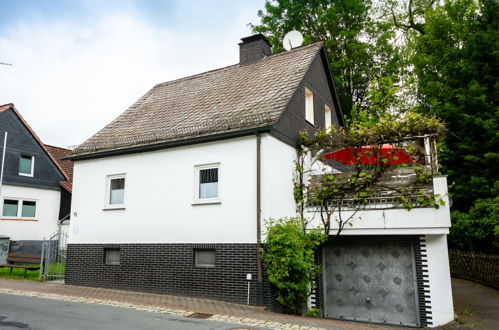
[{"label": "dark fence along the driveway at the far right", "polygon": [[499,255],[449,250],[449,263],[452,276],[499,289]]}]

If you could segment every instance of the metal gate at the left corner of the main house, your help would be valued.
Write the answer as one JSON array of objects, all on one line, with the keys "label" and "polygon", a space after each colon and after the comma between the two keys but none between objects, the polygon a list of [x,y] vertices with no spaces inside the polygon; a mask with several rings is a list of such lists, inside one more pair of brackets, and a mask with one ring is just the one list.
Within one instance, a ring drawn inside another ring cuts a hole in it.
[{"label": "metal gate at the left corner of the main house", "polygon": [[64,279],[66,273],[66,246],[68,234],[59,230],[42,242],[40,279],[42,281]]}]

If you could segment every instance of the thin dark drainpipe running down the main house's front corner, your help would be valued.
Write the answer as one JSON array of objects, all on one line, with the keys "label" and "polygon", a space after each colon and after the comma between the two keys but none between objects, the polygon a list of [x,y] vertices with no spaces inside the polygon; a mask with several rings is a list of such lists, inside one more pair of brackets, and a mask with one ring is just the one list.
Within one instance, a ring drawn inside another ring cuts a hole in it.
[{"label": "thin dark drainpipe running down the main house's front corner", "polygon": [[260,166],[260,133],[256,133],[256,256],[258,264],[258,305],[263,306],[263,271],[262,271],[262,256],[260,249],[262,247],[262,229],[261,229],[261,166]]}]

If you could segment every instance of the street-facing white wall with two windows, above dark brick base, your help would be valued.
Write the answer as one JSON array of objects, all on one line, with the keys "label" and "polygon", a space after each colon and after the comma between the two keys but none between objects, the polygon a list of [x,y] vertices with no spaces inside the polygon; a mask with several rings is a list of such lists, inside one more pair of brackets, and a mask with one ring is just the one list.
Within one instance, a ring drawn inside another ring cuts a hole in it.
[{"label": "street-facing white wall with two windows, above dark brick base", "polygon": [[[197,203],[205,164],[219,164],[219,202]],[[126,174],[125,206],[106,209],[114,174]],[[73,186],[71,243],[256,242],[255,136],[78,161]]]}]

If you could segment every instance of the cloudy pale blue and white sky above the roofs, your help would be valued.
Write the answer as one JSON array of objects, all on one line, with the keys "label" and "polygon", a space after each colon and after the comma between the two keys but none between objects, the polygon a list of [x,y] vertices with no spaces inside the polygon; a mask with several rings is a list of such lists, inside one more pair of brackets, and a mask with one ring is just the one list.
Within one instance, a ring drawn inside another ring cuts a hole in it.
[{"label": "cloudy pale blue and white sky above the roofs", "polygon": [[239,61],[264,0],[0,0],[0,105],[82,143],[155,84]]}]

